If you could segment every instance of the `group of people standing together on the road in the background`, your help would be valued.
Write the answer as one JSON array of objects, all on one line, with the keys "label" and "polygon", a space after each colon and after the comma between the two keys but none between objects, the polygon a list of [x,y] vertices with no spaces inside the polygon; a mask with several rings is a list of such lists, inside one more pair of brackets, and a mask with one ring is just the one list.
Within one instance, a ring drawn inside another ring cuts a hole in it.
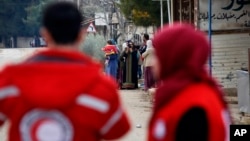
[{"label": "group of people standing together on the road in the background", "polygon": [[143,35],[143,44],[131,40],[122,45],[121,51],[112,42],[102,48],[105,53],[105,72],[119,84],[121,89],[138,88],[138,79],[144,77],[144,90],[155,87],[152,65],[154,49],[148,34]]}]

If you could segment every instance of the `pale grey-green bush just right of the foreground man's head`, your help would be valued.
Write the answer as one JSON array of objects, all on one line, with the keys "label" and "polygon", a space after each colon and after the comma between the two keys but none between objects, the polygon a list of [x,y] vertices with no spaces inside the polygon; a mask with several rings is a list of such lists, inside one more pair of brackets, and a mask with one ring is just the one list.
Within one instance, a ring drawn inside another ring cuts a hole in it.
[{"label": "pale grey-green bush just right of the foreground man's head", "polygon": [[101,50],[106,45],[106,40],[102,35],[88,34],[81,46],[81,50],[89,56],[102,61],[104,60],[104,53]]}]

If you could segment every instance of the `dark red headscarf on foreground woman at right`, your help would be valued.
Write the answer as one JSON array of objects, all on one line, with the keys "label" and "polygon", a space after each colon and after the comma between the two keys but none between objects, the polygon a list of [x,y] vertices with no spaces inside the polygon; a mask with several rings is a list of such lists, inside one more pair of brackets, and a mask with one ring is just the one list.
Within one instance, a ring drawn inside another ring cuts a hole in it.
[{"label": "dark red headscarf on foreground woman at right", "polygon": [[202,32],[187,24],[164,26],[154,36],[153,46],[159,60],[159,79],[162,82],[155,95],[154,112],[186,86],[197,82],[210,85],[225,104],[218,85],[208,75],[205,67],[210,48]]}]

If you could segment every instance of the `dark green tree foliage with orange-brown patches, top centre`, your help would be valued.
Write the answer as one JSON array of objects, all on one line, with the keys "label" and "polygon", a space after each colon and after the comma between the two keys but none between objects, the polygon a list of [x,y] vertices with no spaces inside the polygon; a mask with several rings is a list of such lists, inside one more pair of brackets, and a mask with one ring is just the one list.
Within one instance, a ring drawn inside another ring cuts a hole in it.
[{"label": "dark green tree foliage with orange-brown patches, top centre", "polygon": [[[160,26],[160,2],[152,0],[120,0],[119,7],[128,20],[135,25]],[[163,2],[163,19],[168,23],[167,3]]]}]

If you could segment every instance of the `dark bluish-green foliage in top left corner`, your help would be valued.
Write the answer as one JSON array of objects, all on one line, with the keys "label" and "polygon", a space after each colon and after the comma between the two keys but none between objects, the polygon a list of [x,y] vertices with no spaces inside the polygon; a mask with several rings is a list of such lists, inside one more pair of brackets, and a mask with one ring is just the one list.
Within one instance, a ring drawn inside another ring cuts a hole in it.
[{"label": "dark bluish-green foliage in top left corner", "polygon": [[0,0],[0,36],[39,34],[41,11],[51,0]]}]

